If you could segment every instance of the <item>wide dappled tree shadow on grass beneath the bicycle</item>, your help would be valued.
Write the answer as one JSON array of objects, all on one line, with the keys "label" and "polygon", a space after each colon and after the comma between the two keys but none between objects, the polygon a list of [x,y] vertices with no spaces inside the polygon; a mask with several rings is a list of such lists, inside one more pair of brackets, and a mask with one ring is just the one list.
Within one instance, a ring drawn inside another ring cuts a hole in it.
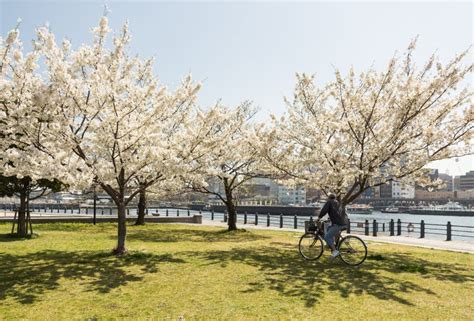
[{"label": "wide dappled tree shadow on grass beneath the bicycle", "polygon": [[[294,247],[234,248],[188,254],[200,256],[205,266],[225,267],[235,263],[254,266],[261,272],[261,279],[248,283],[244,292],[271,289],[284,296],[299,298],[307,307],[323,303],[329,292],[339,293],[342,298],[368,295],[414,306],[406,298],[407,293],[437,296],[429,287],[430,280],[454,283],[474,281],[469,267],[431,262],[408,253],[374,259],[369,256],[360,267],[346,266],[339,259],[330,261],[324,256],[317,262],[308,262],[299,256]],[[416,274],[420,279],[410,281],[402,273]]]}]

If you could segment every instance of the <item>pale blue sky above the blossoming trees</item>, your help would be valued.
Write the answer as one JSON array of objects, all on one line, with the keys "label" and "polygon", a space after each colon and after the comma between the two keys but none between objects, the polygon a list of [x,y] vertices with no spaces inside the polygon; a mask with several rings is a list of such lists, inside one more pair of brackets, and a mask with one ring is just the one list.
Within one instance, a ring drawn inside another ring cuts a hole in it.
[{"label": "pale blue sky above the blossoming trees", "polygon": [[[162,83],[176,87],[191,73],[203,83],[199,103],[251,100],[258,119],[285,111],[284,96],[295,73],[316,74],[318,84],[354,66],[386,66],[419,37],[419,65],[437,52],[442,61],[473,41],[474,5],[466,2],[163,2],[163,1],[6,1],[0,0],[0,34],[22,19],[28,47],[34,29],[49,23],[73,47],[90,43],[90,28],[109,7],[118,30],[129,22],[132,53],[155,57]],[[472,53],[472,52],[471,52]],[[471,54],[471,60],[474,54]],[[470,86],[473,78],[468,80]],[[430,167],[460,175],[474,170],[474,156],[443,160]]]}]

